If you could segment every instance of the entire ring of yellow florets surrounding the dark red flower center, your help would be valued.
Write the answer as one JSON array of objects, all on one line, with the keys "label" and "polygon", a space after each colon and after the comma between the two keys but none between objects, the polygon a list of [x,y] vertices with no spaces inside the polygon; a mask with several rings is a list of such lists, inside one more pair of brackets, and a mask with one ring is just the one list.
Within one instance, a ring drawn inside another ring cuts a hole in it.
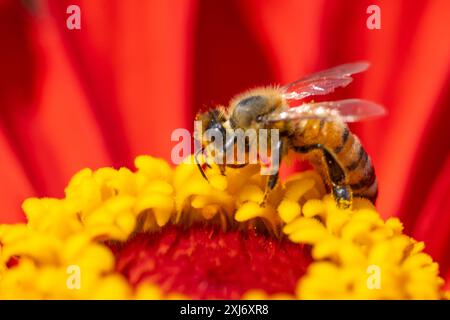
[{"label": "entire ring of yellow florets surrounding the dark red flower center", "polygon": [[[438,266],[422,252],[423,243],[402,234],[398,219],[380,219],[369,201],[355,199],[353,209],[338,209],[314,171],[291,176],[261,207],[266,177],[258,166],[229,169],[226,177],[213,166],[208,183],[194,164],[172,169],[140,156],[135,165],[134,172],[84,169],[63,199],[27,199],[28,223],[0,226],[0,299],[182,297],[149,284],[132,289],[115,271],[107,243],[196,221],[224,230],[264,228],[312,246],[314,261],[295,297],[252,290],[244,298],[442,297]],[[9,268],[16,258],[18,265]]]}]

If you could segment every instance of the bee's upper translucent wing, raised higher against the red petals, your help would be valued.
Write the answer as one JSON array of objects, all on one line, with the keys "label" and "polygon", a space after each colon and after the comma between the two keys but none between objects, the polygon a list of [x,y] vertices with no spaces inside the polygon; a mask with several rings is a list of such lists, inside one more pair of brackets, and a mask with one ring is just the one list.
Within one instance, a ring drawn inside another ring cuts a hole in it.
[{"label": "bee's upper translucent wing, raised higher against the red petals", "polygon": [[353,81],[352,74],[363,72],[367,68],[369,63],[355,62],[313,73],[281,87],[282,95],[287,100],[301,100],[310,96],[329,94],[336,88],[346,87]]}]

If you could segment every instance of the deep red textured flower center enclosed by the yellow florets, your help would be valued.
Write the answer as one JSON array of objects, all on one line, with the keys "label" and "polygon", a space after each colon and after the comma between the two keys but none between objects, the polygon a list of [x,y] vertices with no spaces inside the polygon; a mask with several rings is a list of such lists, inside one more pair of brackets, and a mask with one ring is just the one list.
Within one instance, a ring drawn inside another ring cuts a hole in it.
[{"label": "deep red textured flower center enclosed by the yellow florets", "polygon": [[117,253],[132,285],[155,283],[194,299],[239,299],[250,289],[293,294],[310,261],[306,247],[287,240],[203,225],[139,234]]}]

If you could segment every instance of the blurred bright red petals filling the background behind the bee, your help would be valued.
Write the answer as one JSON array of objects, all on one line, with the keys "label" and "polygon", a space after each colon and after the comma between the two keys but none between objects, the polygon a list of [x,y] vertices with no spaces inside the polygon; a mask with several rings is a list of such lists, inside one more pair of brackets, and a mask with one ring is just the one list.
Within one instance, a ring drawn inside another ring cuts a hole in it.
[{"label": "blurred bright red petals filling the background behind the bee", "polygon": [[[81,30],[66,9],[81,8]],[[366,9],[381,9],[369,30]],[[0,0],[0,223],[30,196],[63,196],[83,167],[170,159],[197,109],[257,85],[357,60],[333,98],[388,116],[352,128],[399,216],[450,278],[450,1]]]}]

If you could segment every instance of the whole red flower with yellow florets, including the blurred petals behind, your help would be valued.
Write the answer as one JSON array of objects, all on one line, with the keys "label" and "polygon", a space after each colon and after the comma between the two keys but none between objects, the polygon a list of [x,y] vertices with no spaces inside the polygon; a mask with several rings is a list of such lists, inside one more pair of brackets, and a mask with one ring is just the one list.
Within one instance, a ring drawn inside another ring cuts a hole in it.
[{"label": "whole red flower with yellow florets, including the blurred petals behind", "polygon": [[[66,26],[74,4],[81,30]],[[430,256],[448,289],[450,2],[378,1],[381,29],[369,30],[372,4],[0,0],[0,251],[9,288],[0,294],[439,297]],[[351,127],[376,168],[376,209],[357,200],[353,211],[336,211],[315,174],[303,172],[261,210],[259,178],[245,180],[252,172],[234,179],[230,170],[209,185],[164,161],[137,172],[85,169],[63,192],[81,168],[132,168],[139,154],[169,159],[171,133],[192,129],[203,105],[359,60],[371,69],[327,99],[362,97],[388,109]],[[143,172],[166,176],[147,178],[144,191]],[[29,197],[40,199],[21,210]],[[81,287],[68,290],[76,266]],[[377,266],[382,283],[368,278]]]}]

